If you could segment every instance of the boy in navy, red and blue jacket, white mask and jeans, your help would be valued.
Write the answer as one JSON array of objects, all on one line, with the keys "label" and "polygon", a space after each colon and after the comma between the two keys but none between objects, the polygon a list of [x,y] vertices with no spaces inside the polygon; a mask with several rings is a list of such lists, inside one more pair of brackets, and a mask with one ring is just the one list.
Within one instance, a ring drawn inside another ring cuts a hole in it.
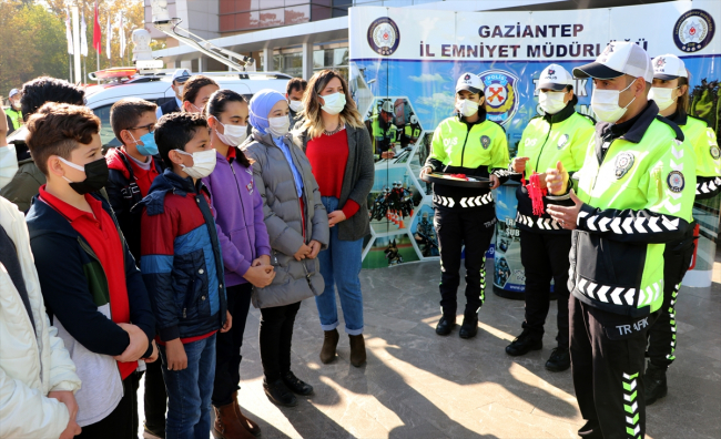
[{"label": "boy in navy, red and blue jacket, white mask and jeans", "polygon": [[223,257],[210,193],[215,167],[207,122],[164,115],[155,142],[166,167],[141,205],[141,269],[158,319],[165,388],[165,437],[207,437],[215,378],[215,333],[231,329]]}]

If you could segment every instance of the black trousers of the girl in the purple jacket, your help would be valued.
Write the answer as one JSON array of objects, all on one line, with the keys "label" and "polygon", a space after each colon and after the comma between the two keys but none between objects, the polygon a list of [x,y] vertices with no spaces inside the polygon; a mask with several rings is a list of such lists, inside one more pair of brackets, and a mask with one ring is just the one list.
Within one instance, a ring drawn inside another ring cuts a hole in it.
[{"label": "black trousers of the girl in the purple jacket", "polygon": [[233,327],[227,333],[219,331],[215,338],[215,381],[211,398],[215,407],[233,402],[233,394],[241,388],[241,347],[252,295],[252,284],[227,287],[227,310],[233,317]]}]

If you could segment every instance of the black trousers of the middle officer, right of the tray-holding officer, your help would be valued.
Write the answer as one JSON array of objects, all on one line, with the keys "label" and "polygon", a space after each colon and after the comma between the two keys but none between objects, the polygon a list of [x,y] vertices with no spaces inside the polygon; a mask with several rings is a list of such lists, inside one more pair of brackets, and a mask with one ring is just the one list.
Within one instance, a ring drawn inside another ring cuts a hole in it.
[{"label": "black trousers of the middle officer, right of the tray-holding officer", "polygon": [[544,338],[544,324],[550,307],[551,278],[558,298],[556,325],[558,346],[568,349],[568,254],[571,235],[520,231],[520,261],[526,272],[526,319],[524,331],[532,339]]}]

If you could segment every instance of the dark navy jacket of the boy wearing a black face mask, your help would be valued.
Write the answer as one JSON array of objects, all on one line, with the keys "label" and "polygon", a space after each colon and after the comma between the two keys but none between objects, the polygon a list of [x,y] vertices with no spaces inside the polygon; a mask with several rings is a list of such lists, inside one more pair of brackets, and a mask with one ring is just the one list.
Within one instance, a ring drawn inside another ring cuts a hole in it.
[{"label": "dark navy jacket of the boy wearing a black face mask", "polygon": [[[115,222],[125,251],[130,321],[140,327],[150,341],[155,336],[155,319],[140,270],[110,204],[98,194],[93,196],[102,202],[103,208]],[[103,305],[99,300],[109,297],[108,279],[90,244],[59,212],[39,201],[38,195],[32,200],[27,222],[48,314],[58,318],[88,350],[109,356],[121,355],[130,344],[130,337],[99,310],[99,306]],[[151,353],[152,346],[149,345],[143,357]]]}]

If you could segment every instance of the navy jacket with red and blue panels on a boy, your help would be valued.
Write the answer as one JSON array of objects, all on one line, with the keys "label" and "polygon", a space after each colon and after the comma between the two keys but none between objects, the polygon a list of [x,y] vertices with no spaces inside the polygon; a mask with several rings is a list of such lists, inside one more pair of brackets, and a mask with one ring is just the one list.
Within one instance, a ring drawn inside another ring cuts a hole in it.
[{"label": "navy jacket with red and blue panels on a boy", "polygon": [[210,193],[165,170],[135,206],[143,207],[140,266],[161,340],[220,329],[227,305]]}]

